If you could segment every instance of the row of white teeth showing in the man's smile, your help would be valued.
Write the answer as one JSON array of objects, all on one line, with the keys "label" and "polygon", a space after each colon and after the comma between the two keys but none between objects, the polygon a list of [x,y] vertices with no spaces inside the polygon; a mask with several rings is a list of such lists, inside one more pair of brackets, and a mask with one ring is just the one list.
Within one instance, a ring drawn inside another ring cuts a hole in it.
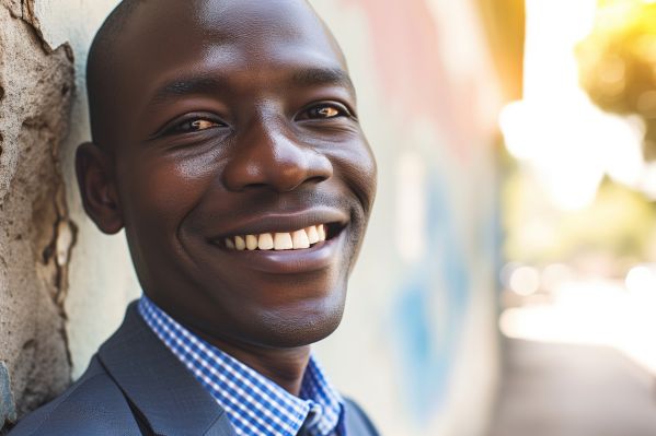
[{"label": "row of white teeth showing in the man's smile", "polygon": [[344,227],[339,224],[317,224],[292,232],[266,232],[235,235],[222,239],[222,245],[233,251],[302,250],[336,236]]}]

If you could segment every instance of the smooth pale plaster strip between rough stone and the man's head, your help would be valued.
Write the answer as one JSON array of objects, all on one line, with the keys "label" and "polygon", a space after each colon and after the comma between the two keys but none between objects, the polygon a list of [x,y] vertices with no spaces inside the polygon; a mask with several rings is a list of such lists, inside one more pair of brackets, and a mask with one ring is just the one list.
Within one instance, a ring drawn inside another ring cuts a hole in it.
[{"label": "smooth pale plaster strip between rough stone and the man's head", "polygon": [[76,94],[68,137],[61,144],[61,172],[70,216],[78,225],[69,266],[69,290],[64,302],[72,378],[87,368],[97,346],[123,319],[128,302],[138,297],[139,284],[123,233],[99,232],[82,209],[74,175],[74,150],[91,139],[85,94],[85,64],[95,32],[118,0],[35,0],[34,15],[51,47],[69,45],[74,54]]}]

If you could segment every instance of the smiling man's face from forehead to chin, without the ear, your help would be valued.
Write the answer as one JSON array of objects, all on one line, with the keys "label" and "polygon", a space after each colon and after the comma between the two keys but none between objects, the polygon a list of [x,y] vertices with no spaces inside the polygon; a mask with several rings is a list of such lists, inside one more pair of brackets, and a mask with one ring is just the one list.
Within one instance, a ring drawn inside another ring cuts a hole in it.
[{"label": "smiling man's face from forehead to chin, without the ear", "polygon": [[146,3],[122,40],[103,116],[146,293],[225,341],[296,346],[330,334],[376,164],[319,20],[289,0]]}]

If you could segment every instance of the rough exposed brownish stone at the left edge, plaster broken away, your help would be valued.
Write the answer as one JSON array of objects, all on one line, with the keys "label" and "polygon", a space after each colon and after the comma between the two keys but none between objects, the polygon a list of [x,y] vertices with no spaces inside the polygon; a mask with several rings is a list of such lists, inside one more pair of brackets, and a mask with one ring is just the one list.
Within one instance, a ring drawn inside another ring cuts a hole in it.
[{"label": "rough exposed brownish stone at the left edge, plaster broken away", "polygon": [[76,225],[59,146],[73,59],[43,42],[32,11],[30,1],[0,0],[0,427],[70,382],[64,298]]}]

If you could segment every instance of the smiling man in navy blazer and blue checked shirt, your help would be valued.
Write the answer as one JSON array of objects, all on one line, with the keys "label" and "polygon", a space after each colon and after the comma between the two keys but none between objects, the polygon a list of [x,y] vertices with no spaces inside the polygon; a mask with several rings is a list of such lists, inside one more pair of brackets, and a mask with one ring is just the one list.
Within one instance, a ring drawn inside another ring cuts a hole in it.
[{"label": "smiling man in navy blazer and blue checked shirt", "polygon": [[310,354],[339,323],[376,189],[312,9],[126,0],[88,87],[84,208],[125,228],[145,295],[12,435],[375,435]]}]

